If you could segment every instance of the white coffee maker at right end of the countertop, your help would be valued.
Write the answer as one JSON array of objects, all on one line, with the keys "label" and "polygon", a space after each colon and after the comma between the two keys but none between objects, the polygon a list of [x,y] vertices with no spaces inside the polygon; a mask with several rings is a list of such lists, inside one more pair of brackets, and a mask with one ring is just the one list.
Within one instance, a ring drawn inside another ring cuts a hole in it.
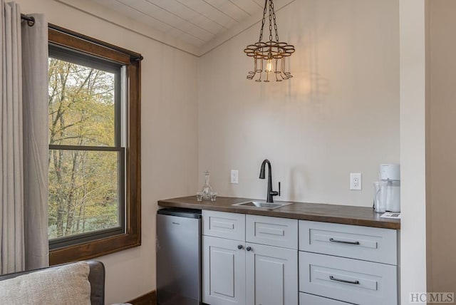
[{"label": "white coffee maker at right end of the countertop", "polygon": [[380,180],[387,182],[386,207],[389,212],[400,212],[400,165],[380,164]]}]

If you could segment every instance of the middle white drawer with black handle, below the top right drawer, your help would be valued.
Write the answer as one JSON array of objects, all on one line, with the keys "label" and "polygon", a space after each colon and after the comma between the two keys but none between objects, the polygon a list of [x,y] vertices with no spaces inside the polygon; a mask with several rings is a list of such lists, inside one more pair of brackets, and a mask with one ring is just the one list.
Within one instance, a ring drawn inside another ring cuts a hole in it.
[{"label": "middle white drawer with black handle, below the top right drawer", "polygon": [[395,305],[397,267],[299,252],[299,291],[360,305]]}]

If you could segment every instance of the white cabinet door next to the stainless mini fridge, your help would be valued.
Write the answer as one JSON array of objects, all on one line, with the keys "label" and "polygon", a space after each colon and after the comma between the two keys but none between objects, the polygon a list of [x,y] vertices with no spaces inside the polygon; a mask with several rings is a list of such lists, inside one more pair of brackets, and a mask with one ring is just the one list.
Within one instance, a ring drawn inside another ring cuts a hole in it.
[{"label": "white cabinet door next to the stainless mini fridge", "polygon": [[202,301],[211,305],[245,304],[244,242],[203,236],[202,252]]}]

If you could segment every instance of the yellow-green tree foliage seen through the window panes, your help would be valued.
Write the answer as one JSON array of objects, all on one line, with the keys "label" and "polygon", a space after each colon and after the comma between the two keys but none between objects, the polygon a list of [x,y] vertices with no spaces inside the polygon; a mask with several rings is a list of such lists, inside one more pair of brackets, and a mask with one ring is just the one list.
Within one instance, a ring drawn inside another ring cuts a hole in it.
[{"label": "yellow-green tree foliage seen through the window panes", "polygon": [[[115,145],[115,75],[49,58],[49,144]],[[118,152],[49,151],[49,239],[118,226]]]}]

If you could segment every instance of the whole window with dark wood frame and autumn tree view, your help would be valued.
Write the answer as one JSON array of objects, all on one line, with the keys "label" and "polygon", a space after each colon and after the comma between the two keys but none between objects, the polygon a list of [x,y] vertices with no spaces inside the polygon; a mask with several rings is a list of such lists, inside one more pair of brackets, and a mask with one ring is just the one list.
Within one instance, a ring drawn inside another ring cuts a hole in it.
[{"label": "whole window with dark wood frame and autumn tree view", "polygon": [[50,25],[51,264],[140,245],[139,58]]}]

